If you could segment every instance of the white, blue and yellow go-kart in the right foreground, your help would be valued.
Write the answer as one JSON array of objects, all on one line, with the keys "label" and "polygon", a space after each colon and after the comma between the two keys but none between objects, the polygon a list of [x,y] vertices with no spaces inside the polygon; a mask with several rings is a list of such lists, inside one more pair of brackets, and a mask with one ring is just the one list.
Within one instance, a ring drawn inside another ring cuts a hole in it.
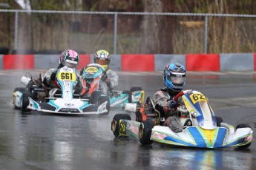
[{"label": "white, blue and yellow go-kart in the right foreground", "polygon": [[[234,126],[224,123],[215,116],[208,98],[195,90],[184,90],[177,94],[174,101],[181,97],[186,108],[178,106],[176,120],[183,128],[175,132],[169,126],[161,126],[161,113],[155,108],[151,98],[139,108],[134,104],[125,106],[125,110],[135,112],[136,120],[131,120],[128,114],[117,114],[111,122],[111,130],[116,137],[134,136],[142,144],[153,141],[174,146],[189,146],[197,148],[247,148],[253,141],[253,131],[248,124]],[[184,105],[183,105],[184,106]]]}]

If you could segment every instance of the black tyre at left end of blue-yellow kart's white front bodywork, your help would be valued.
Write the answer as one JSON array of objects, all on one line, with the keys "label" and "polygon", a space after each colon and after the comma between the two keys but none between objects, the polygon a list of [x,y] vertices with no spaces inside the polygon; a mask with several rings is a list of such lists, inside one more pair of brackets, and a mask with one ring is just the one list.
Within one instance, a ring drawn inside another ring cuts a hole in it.
[{"label": "black tyre at left end of blue-yellow kart's white front bodywork", "polygon": [[142,121],[139,128],[139,138],[142,145],[150,145],[153,140],[150,139],[154,122],[150,119]]}]

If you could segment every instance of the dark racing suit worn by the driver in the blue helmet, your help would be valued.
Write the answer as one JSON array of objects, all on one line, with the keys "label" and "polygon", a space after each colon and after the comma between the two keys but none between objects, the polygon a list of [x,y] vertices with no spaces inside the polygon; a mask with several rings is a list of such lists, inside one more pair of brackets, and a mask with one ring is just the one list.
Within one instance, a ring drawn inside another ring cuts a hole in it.
[{"label": "dark racing suit worn by the driver in the blue helmet", "polygon": [[[179,123],[177,118],[174,115],[177,115],[177,109],[167,109],[166,103],[170,99],[174,99],[174,97],[179,92],[173,92],[170,89],[163,88],[160,91],[157,91],[152,100],[154,101],[155,108],[160,111],[161,122],[160,125],[169,126],[173,132],[181,132],[183,130],[183,126]],[[181,103],[180,98],[177,103],[184,105]]]}]

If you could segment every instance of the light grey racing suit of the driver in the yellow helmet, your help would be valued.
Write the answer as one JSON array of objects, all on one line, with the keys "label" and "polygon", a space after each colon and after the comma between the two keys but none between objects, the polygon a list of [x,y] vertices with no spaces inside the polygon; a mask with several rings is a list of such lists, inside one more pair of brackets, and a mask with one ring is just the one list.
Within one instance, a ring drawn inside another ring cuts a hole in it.
[{"label": "light grey racing suit of the driver in the yellow helmet", "polygon": [[106,69],[99,86],[104,95],[110,96],[111,90],[118,85],[118,75],[111,69]]}]

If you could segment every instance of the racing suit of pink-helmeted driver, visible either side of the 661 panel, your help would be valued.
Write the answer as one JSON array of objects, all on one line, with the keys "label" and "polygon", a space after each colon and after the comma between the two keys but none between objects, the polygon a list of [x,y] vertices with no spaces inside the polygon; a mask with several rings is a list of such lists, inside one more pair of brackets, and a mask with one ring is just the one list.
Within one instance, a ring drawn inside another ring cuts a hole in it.
[{"label": "racing suit of pink-helmeted driver, visible either side of the 661 panel", "polygon": [[[43,83],[45,84],[45,86],[50,87],[50,98],[52,98],[56,91],[59,89],[59,84],[57,84],[55,81],[56,72],[58,71],[58,69],[48,69],[47,72],[45,72]],[[80,76],[78,74],[76,74],[76,76],[77,78],[74,89],[75,92],[79,94],[80,92],[82,92],[82,82],[80,81]]]}]

